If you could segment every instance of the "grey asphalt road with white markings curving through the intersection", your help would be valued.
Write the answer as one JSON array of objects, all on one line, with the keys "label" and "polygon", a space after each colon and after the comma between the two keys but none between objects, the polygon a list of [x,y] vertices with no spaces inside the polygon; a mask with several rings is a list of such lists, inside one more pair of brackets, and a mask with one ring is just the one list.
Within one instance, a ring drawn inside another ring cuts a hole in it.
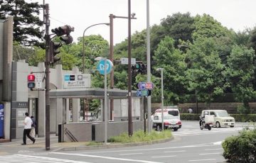
[{"label": "grey asphalt road with white markings curving through the intersection", "polygon": [[1,156],[0,162],[225,162],[221,142],[225,137],[237,135],[238,130],[242,127],[200,130],[198,122],[183,121],[182,128],[173,131],[174,140],[169,142],[107,150],[24,151]]}]

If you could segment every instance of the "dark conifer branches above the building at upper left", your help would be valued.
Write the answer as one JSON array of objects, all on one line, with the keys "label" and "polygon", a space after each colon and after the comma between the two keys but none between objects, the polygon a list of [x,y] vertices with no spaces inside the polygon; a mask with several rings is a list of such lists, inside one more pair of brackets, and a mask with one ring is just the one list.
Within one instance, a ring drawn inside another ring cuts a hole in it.
[{"label": "dark conifer branches above the building at upper left", "polygon": [[26,46],[40,45],[43,21],[38,16],[42,6],[25,0],[0,0],[0,4],[0,19],[14,16],[14,40]]}]

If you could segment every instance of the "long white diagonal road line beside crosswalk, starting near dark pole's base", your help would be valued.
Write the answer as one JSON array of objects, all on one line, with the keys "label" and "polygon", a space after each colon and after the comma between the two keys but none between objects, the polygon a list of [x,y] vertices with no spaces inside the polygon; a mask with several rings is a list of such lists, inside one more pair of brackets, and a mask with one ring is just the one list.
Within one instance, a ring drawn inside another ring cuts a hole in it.
[{"label": "long white diagonal road line beside crosswalk, starting near dark pole's base", "polygon": [[117,157],[105,157],[105,156],[97,156],[97,155],[90,155],[90,154],[75,154],[75,153],[62,153],[62,152],[51,152],[51,153],[63,154],[63,155],[73,155],[73,156],[94,157],[94,158],[102,158],[102,159],[122,160],[122,161],[126,161],[126,162],[161,163],[161,162],[151,162],[151,161],[139,160],[139,159],[123,159],[123,158],[117,158]]}]

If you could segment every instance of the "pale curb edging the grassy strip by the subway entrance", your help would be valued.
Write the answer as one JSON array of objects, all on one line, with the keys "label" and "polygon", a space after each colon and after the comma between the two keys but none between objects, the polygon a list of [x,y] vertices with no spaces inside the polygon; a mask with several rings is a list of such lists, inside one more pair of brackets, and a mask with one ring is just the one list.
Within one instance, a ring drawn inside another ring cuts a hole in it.
[{"label": "pale curb edging the grassy strip by the subway entrance", "polygon": [[118,147],[134,147],[139,145],[154,145],[157,143],[169,142],[174,140],[174,136],[164,140],[154,140],[150,142],[131,142],[125,144],[110,144],[110,145],[95,145],[95,146],[78,146],[78,147],[62,147],[59,149],[54,150],[54,152],[59,151],[76,151],[76,150],[102,150],[102,149],[109,149],[109,148],[118,148]]}]

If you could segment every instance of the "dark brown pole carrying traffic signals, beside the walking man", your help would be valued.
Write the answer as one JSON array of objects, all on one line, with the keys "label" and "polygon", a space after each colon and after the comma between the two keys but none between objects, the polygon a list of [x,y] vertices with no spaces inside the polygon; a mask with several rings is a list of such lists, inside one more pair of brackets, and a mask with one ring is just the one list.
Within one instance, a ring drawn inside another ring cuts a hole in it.
[{"label": "dark brown pole carrying traffic signals, beside the walking man", "polygon": [[50,35],[49,4],[45,6],[46,15],[46,150],[50,150]]}]

